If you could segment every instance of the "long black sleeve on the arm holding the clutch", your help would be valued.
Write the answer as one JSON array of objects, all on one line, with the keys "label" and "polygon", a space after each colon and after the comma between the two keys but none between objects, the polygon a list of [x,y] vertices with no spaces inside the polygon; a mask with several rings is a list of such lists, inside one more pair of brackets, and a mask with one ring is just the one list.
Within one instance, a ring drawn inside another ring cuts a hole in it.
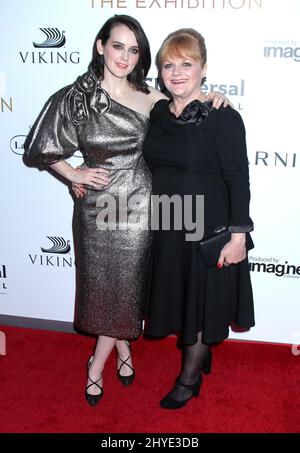
[{"label": "long black sleeve on the arm holding the clutch", "polygon": [[249,216],[250,183],[246,133],[240,114],[230,108],[217,111],[216,151],[229,192],[229,231],[253,230]]}]

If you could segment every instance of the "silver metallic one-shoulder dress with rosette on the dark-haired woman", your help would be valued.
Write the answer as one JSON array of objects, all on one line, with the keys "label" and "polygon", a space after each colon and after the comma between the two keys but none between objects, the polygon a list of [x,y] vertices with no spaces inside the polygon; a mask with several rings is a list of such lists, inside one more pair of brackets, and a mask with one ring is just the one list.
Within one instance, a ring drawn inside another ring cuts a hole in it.
[{"label": "silver metallic one-shoulder dress with rosette on the dark-haired woman", "polygon": [[76,199],[75,327],[137,338],[151,231],[151,176],[142,156],[148,118],[111,99],[93,72],[50,97],[25,142],[25,161],[49,165],[76,150],[110,183]]}]

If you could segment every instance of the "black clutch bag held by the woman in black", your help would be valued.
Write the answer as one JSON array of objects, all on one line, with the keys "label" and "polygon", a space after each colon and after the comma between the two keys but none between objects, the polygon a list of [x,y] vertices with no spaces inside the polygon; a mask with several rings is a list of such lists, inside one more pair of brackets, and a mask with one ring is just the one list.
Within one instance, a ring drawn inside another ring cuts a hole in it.
[{"label": "black clutch bag held by the woman in black", "polygon": [[[228,230],[220,231],[213,236],[202,239],[198,242],[200,252],[206,267],[215,267],[218,263],[218,259],[222,248],[231,239],[231,233]],[[246,249],[251,250],[254,248],[252,238],[249,233],[246,233]]]}]

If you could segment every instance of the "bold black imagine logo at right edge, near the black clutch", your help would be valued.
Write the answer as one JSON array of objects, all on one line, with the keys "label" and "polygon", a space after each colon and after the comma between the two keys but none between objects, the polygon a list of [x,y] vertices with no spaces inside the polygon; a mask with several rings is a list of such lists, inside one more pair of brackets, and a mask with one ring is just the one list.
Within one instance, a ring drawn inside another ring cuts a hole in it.
[{"label": "bold black imagine logo at right edge, near the black clutch", "polygon": [[285,261],[280,264],[277,258],[249,256],[249,268],[252,272],[274,274],[276,277],[300,278],[300,266]]}]

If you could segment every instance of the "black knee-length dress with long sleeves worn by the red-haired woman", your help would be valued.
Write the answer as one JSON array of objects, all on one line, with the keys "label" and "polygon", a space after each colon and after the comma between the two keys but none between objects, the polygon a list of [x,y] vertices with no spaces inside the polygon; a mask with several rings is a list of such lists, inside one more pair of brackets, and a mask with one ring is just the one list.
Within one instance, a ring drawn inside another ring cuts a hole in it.
[{"label": "black knee-length dress with long sleeves worn by the red-haired woman", "polygon": [[[204,237],[224,227],[249,232],[253,222],[244,124],[234,109],[210,107],[195,100],[177,118],[169,101],[155,105],[143,150],[152,173],[152,194],[179,195],[182,211],[189,199],[194,220],[199,215],[196,196],[203,195]],[[245,329],[254,326],[248,259],[207,269],[199,240],[187,240],[190,228],[185,228],[184,218],[178,229],[174,211],[170,213],[170,227],[162,226],[161,216],[154,231],[144,307],[146,334],[181,332],[182,342],[193,344],[202,332],[202,341],[212,344],[228,336],[232,322]]]}]

